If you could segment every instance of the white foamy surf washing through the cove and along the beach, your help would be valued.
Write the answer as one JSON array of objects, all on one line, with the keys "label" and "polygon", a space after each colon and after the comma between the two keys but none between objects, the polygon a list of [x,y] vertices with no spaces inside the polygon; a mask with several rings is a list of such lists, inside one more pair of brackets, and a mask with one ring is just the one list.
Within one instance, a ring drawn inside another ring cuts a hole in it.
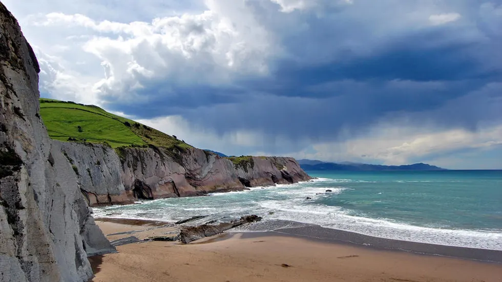
[{"label": "white foamy surf washing through the cove and along the beach", "polygon": [[[322,200],[325,197],[348,191],[342,187],[343,182],[347,180],[316,179],[313,182],[288,186],[278,185],[264,189],[256,187],[246,191],[215,193],[211,197],[164,199],[134,205],[99,207],[93,210],[96,217],[154,219],[168,222],[190,218],[193,215],[210,215],[206,219],[208,221],[259,214],[264,216],[260,226],[265,229],[275,228],[266,224],[268,220],[282,220],[317,224],[326,228],[396,240],[502,250],[502,232],[499,230],[453,230],[414,226],[390,219],[366,218],[364,214],[354,216],[351,210],[323,204]],[[325,192],[327,189],[332,192]],[[311,200],[307,200],[306,197]],[[288,224],[286,222],[282,226]]]}]

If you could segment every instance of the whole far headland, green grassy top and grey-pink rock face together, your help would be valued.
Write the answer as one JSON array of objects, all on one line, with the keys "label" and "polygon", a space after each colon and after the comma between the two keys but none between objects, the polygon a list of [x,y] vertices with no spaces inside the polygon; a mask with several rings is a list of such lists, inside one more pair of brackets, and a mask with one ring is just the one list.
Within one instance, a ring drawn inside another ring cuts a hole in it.
[{"label": "whole far headland, green grassy top and grey-pink rock face together", "polygon": [[40,99],[49,136],[72,164],[90,205],[198,196],[310,177],[296,160],[222,157],[95,105]]}]

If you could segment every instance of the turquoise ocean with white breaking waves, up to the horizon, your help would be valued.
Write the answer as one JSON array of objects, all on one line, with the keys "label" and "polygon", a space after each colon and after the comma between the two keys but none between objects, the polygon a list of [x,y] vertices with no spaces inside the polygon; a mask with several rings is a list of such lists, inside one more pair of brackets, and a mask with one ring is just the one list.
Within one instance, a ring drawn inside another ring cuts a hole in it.
[{"label": "turquoise ocean with white breaking waves, up to the horizon", "polygon": [[402,241],[502,250],[502,170],[307,173],[317,179],[93,212],[98,218],[166,222],[208,215],[197,223],[257,214],[261,222],[237,231],[315,224]]}]

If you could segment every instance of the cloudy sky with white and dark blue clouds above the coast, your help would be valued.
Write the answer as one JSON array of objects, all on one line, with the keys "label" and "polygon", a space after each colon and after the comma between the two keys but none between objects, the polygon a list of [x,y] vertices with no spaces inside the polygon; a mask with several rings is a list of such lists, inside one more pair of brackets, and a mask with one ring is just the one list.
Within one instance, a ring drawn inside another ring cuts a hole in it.
[{"label": "cloudy sky with white and dark blue clouds above the coast", "polygon": [[42,97],[226,155],[502,169],[502,0],[2,0]]}]

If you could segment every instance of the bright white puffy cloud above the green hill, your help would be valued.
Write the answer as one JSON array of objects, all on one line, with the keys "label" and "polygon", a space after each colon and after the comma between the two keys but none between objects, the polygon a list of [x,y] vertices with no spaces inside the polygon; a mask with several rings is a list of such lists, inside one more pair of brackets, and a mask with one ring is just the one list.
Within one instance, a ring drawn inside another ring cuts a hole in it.
[{"label": "bright white puffy cloud above the green hill", "polygon": [[104,78],[93,85],[98,97],[125,98],[153,81],[224,84],[238,75],[267,74],[274,39],[248,15],[248,7],[206,4],[200,14],[154,18],[150,23],[49,13],[32,18],[32,25],[91,35],[81,48],[99,58],[104,68]]}]

